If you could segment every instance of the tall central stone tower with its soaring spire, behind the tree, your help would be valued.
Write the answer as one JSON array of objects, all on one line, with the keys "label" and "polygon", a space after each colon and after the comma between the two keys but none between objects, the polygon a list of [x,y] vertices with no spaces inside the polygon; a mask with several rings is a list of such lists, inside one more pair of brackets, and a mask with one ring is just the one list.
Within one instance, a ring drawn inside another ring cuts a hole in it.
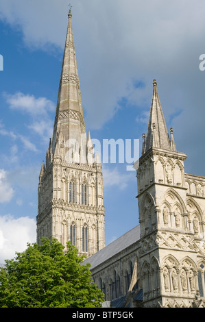
[{"label": "tall central stone tower with its soaring spire, behind the tree", "polygon": [[68,16],[53,138],[39,176],[37,243],[70,240],[91,256],[105,244],[102,166],[86,136],[71,10]]}]

